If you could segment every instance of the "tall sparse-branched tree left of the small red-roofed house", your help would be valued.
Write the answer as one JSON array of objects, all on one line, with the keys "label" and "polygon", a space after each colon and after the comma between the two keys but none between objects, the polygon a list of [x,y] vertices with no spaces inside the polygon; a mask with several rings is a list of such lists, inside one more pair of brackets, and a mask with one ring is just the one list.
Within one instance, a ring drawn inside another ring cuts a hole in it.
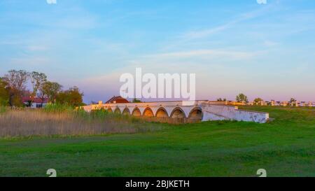
[{"label": "tall sparse-branched tree left of the small red-roofed house", "polygon": [[3,80],[8,86],[10,106],[22,106],[21,97],[26,89],[26,83],[29,73],[24,70],[10,70],[4,76]]}]

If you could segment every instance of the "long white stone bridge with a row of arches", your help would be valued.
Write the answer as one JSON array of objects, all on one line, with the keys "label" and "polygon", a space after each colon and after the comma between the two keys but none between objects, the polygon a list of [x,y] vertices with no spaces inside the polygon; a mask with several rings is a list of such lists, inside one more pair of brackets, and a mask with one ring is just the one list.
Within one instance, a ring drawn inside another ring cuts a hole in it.
[{"label": "long white stone bridge with a row of arches", "polygon": [[85,111],[105,109],[112,113],[146,118],[170,118],[189,121],[238,120],[267,122],[268,113],[239,110],[236,106],[218,105],[216,101],[163,101],[127,104],[92,104]]}]

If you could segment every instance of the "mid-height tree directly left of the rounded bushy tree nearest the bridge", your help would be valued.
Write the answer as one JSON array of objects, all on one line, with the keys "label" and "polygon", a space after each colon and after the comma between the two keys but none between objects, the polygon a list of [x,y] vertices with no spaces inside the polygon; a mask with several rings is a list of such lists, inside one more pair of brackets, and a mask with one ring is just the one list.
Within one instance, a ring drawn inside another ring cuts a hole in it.
[{"label": "mid-height tree directly left of the rounded bushy tree nearest the bridge", "polygon": [[45,81],[38,89],[38,97],[40,97],[42,101],[48,99],[50,102],[55,102],[61,89],[62,85],[59,85],[59,83]]}]

